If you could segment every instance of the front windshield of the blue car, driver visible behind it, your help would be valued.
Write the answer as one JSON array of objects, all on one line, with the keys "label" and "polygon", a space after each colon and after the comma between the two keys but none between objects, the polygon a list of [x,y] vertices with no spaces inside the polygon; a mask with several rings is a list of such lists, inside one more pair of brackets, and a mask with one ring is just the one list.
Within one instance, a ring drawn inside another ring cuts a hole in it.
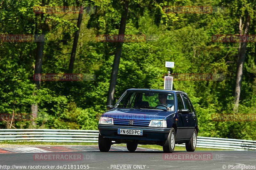
[{"label": "front windshield of the blue car, driver visible behind it", "polygon": [[161,109],[174,111],[174,93],[167,92],[127,92],[115,108]]}]

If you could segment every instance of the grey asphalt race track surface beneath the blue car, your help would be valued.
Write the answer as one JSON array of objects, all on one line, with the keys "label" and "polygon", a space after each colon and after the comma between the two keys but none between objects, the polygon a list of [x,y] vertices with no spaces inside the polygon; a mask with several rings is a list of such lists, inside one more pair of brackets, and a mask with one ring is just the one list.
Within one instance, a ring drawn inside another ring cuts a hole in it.
[{"label": "grey asphalt race track surface beneath the blue car", "polygon": [[[59,155],[58,160],[56,155]],[[89,167],[89,169],[210,170],[249,169],[248,166],[250,169],[256,169],[256,151],[176,151],[165,154],[159,150],[137,148],[134,153],[130,153],[126,147],[112,146],[109,152],[103,153],[96,145],[0,145],[0,170],[6,170],[8,166],[9,169],[17,170],[43,169],[42,166],[45,166],[44,169],[50,166],[55,166],[52,169],[86,169]]]}]

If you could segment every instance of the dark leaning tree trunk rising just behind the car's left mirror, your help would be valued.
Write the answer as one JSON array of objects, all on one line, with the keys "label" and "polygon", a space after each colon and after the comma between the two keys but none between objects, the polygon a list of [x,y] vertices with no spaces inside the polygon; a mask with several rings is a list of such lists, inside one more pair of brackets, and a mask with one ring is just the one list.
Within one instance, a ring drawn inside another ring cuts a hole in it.
[{"label": "dark leaning tree trunk rising just behind the car's left mirror", "polygon": [[[128,0],[124,0],[124,13],[122,14],[122,17],[121,17],[119,33],[118,33],[119,35],[123,35],[124,32],[125,32],[125,25],[126,25],[127,15],[128,15]],[[112,73],[111,73],[109,90],[108,90],[107,105],[113,104],[113,101],[114,101],[114,93],[115,93],[115,87],[116,87],[117,72],[118,72],[119,63],[120,63],[122,46],[123,46],[123,42],[117,42],[116,54],[115,54],[114,63],[113,63],[113,66],[112,66]]]}]

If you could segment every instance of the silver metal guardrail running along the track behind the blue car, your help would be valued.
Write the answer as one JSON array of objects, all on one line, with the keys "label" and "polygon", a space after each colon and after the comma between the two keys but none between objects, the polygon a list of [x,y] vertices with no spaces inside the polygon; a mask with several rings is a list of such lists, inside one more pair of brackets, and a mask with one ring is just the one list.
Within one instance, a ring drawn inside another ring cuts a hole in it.
[{"label": "silver metal guardrail running along the track behind the blue car", "polygon": [[[0,129],[0,141],[98,142],[98,130]],[[180,144],[184,146],[185,144]],[[196,147],[256,150],[256,141],[216,137],[197,137]]]}]

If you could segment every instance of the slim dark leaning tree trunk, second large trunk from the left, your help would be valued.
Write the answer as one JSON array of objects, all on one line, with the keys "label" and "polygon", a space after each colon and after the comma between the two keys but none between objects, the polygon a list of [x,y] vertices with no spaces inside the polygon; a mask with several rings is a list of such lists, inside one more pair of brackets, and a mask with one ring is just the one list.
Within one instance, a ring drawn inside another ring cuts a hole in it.
[{"label": "slim dark leaning tree trunk, second large trunk from the left", "polygon": [[72,73],[73,72],[74,63],[75,63],[75,57],[76,57],[76,48],[77,48],[77,43],[78,43],[78,38],[79,38],[79,32],[80,32],[80,26],[81,26],[82,18],[83,18],[83,12],[79,12],[78,20],[77,20],[77,24],[76,24],[78,30],[75,32],[75,37],[74,37],[71,57],[70,57],[70,61],[69,61],[68,73]]}]

